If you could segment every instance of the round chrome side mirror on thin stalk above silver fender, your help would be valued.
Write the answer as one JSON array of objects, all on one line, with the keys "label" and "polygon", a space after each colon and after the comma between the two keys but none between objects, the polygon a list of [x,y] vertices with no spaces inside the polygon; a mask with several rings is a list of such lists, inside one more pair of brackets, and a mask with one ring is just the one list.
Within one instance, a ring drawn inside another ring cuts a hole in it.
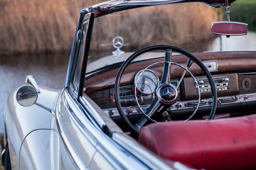
[{"label": "round chrome side mirror on thin stalk above silver fender", "polygon": [[31,86],[22,86],[17,91],[16,100],[21,106],[32,106],[37,101],[37,91]]}]

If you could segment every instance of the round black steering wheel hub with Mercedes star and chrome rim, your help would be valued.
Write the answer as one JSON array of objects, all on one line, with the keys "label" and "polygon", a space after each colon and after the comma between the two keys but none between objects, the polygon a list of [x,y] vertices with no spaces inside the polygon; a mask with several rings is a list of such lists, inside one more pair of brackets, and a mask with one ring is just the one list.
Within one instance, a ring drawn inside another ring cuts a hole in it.
[{"label": "round black steering wheel hub with Mercedes star and chrome rim", "polygon": [[172,105],[178,98],[178,91],[175,86],[170,83],[164,83],[156,89],[156,97],[163,104]]}]

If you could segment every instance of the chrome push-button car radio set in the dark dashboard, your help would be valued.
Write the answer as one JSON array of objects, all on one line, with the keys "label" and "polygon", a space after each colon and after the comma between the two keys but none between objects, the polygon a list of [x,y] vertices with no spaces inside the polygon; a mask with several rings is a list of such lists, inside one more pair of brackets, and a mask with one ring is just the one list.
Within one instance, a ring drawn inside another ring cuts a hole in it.
[{"label": "chrome push-button car radio set in the dark dashboard", "polygon": [[[213,77],[213,80],[217,91],[224,91],[228,89],[228,77]],[[212,92],[209,80],[207,78],[197,79],[197,83],[199,85],[200,93]]]}]

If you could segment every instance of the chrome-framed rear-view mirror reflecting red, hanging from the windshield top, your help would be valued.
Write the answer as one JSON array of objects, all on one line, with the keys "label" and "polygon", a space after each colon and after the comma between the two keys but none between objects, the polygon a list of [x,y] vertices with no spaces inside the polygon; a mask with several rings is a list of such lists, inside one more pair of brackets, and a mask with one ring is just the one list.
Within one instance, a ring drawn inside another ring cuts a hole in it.
[{"label": "chrome-framed rear-view mirror reflecting red, hanging from the windshield top", "polygon": [[248,24],[241,22],[213,22],[212,34],[224,36],[242,36],[246,35],[248,31]]}]

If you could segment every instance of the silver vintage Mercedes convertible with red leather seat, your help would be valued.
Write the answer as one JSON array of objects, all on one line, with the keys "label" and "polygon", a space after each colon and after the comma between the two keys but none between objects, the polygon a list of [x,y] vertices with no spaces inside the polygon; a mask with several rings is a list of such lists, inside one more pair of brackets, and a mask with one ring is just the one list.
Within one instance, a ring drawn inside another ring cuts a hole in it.
[{"label": "silver vintage Mercedes convertible with red leather seat", "polygon": [[248,27],[234,1],[82,9],[63,89],[27,76],[9,95],[5,169],[255,169],[256,52],[231,43]]}]

